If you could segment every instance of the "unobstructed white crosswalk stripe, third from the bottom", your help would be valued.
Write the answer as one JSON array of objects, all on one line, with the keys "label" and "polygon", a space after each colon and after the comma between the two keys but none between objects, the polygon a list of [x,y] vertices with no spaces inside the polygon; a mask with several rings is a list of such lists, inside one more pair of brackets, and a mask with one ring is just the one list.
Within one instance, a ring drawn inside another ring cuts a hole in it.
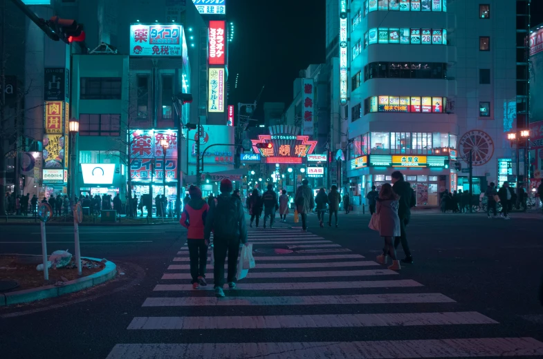
[{"label": "unobstructed white crosswalk stripe, third from the bottom", "polygon": [[142,307],[225,307],[253,305],[341,305],[454,303],[441,293],[393,293],[360,295],[295,295],[280,297],[169,297],[147,298]]}]

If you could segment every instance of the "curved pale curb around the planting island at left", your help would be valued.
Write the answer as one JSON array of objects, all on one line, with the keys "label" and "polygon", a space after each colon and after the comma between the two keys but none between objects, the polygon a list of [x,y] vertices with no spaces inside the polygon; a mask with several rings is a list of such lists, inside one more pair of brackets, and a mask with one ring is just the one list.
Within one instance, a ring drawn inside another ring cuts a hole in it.
[{"label": "curved pale curb around the planting island at left", "polygon": [[[82,257],[81,259],[93,260],[95,262],[101,262],[98,258]],[[95,285],[102,284],[108,280],[115,278],[117,274],[117,266],[113,262],[107,260],[105,262],[105,268],[98,273],[88,275],[83,278],[75,280],[69,280],[62,287],[56,287],[54,285],[48,285],[39,288],[25,289],[23,291],[15,291],[8,293],[0,293],[0,307],[34,302],[36,300],[48,299],[59,297],[60,295],[74,293],[82,291],[83,289],[94,287]]]}]

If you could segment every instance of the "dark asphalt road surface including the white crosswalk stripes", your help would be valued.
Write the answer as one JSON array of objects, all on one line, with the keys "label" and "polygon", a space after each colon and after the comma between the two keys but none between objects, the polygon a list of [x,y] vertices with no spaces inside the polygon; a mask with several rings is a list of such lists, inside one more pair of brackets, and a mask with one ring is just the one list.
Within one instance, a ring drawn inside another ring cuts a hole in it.
[{"label": "dark asphalt road surface including the white crosswalk stripes", "polygon": [[[82,255],[112,260],[125,274],[82,293],[0,309],[0,357],[380,358],[395,347],[398,358],[542,358],[543,215],[511,217],[414,214],[407,233],[415,263],[399,274],[372,263],[383,244],[367,228],[369,215],[340,215],[338,229],[318,228],[310,216],[307,234],[291,223],[253,229],[255,249],[295,245],[295,258],[255,253],[257,269],[221,302],[212,291],[187,289],[179,226],[82,227]],[[51,227],[47,236],[49,252],[73,250],[70,227]],[[39,254],[39,241],[39,226],[0,225],[0,253]],[[232,317],[224,320],[232,329],[213,320],[223,316]],[[194,317],[199,329],[190,329]]]}]

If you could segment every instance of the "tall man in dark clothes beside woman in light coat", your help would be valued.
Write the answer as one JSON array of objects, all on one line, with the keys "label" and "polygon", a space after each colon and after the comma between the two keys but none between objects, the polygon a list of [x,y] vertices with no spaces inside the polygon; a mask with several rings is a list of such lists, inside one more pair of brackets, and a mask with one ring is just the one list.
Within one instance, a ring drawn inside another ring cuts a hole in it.
[{"label": "tall man in dark clothes beside woman in light coat", "polygon": [[401,260],[403,263],[413,264],[413,257],[411,251],[409,251],[409,243],[407,242],[407,233],[405,233],[405,227],[411,220],[411,208],[416,204],[416,197],[411,184],[403,179],[403,174],[400,171],[394,171],[392,173],[392,190],[396,195],[400,196],[398,200],[398,217],[400,218],[400,236],[394,238],[394,248],[398,249],[398,245],[401,243],[405,258]]}]

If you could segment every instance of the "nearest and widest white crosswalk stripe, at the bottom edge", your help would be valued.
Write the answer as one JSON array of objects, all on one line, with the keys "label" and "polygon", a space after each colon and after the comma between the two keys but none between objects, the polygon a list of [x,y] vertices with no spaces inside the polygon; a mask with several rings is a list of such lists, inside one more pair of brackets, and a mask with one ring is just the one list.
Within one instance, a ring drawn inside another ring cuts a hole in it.
[{"label": "nearest and widest white crosswalk stripe, at the bottom edge", "polygon": [[118,344],[113,347],[107,359],[406,359],[490,356],[543,356],[543,342],[533,338],[466,338],[367,342]]}]

